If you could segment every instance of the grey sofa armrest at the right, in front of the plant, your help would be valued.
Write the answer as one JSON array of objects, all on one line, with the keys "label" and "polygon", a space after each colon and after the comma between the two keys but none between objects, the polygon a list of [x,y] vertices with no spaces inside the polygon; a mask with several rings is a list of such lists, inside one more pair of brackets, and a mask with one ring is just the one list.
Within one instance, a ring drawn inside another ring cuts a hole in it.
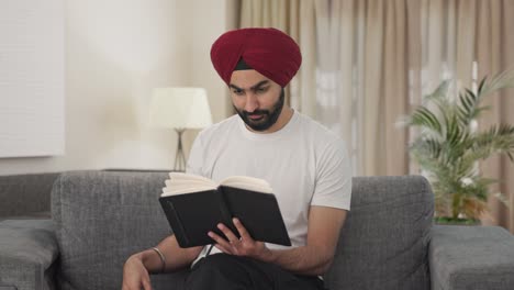
[{"label": "grey sofa armrest at the right, in front of the plant", "polygon": [[514,289],[514,236],[502,227],[435,225],[428,260],[433,290]]}]

